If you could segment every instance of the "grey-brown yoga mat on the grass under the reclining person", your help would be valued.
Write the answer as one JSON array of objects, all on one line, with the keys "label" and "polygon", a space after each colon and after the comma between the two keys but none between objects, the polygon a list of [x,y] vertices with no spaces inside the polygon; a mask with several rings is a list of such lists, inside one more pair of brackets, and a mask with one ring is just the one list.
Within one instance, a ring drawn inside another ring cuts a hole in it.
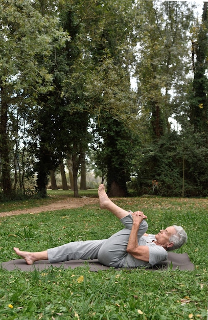
[{"label": "grey-brown yoga mat on the grass under the reclining person", "polygon": [[[33,265],[28,265],[24,259],[15,259],[7,262],[2,262],[0,267],[3,269],[7,269],[9,271],[18,269],[21,271],[33,271],[34,269],[44,270],[49,267],[62,267],[62,268],[76,268],[76,267],[89,267],[90,271],[98,271],[98,270],[107,270],[109,267],[104,266],[99,263],[97,259],[95,260],[70,260],[59,263],[50,263],[48,260],[36,261]],[[167,270],[168,267],[173,270],[194,270],[194,265],[190,261],[187,253],[184,254],[176,254],[169,252],[168,259],[163,261],[158,265],[155,265],[151,268],[146,268],[148,270]]]}]

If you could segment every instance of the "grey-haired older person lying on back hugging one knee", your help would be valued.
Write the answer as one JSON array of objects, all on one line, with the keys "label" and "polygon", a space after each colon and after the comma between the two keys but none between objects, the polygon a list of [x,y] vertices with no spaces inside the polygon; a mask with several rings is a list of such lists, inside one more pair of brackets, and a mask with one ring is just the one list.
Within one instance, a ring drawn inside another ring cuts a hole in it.
[{"label": "grey-haired older person lying on back hugging one knee", "polygon": [[169,226],[156,235],[146,233],[147,216],[141,211],[134,213],[121,209],[107,196],[104,185],[98,188],[100,208],[114,214],[125,228],[108,239],[70,242],[42,252],[24,252],[14,247],[18,256],[27,264],[38,260],[51,263],[98,259],[109,267],[150,267],[167,259],[167,251],[181,247],[187,241],[187,234],[181,226]]}]

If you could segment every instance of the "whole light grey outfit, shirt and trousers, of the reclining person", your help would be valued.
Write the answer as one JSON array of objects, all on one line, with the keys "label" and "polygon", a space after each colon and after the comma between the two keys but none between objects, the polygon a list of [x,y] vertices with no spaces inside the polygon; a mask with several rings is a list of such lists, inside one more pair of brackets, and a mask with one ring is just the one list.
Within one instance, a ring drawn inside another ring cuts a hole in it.
[{"label": "whole light grey outfit, shirt and trousers, of the reclining person", "polygon": [[[145,220],[140,224],[137,237],[139,245],[149,246],[149,263],[138,260],[128,254],[126,247],[133,223],[131,214],[120,221],[124,224],[125,228],[108,239],[75,241],[48,249],[49,261],[55,263],[75,259],[98,259],[100,263],[106,266],[120,268],[151,266],[166,259],[166,250],[152,242],[149,237],[144,236],[144,233],[148,229],[148,224]],[[151,242],[149,243],[148,241]]]}]

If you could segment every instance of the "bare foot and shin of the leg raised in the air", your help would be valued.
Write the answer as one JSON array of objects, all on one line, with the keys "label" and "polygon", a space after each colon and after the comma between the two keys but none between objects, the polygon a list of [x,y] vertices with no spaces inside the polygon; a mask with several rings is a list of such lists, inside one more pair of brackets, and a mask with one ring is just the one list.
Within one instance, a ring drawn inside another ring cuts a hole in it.
[{"label": "bare foot and shin of the leg raised in the air", "polygon": [[117,218],[122,219],[129,215],[129,212],[118,207],[115,203],[113,203],[107,196],[105,192],[104,184],[98,187],[98,196],[100,201],[100,208],[106,209],[114,214]]}]

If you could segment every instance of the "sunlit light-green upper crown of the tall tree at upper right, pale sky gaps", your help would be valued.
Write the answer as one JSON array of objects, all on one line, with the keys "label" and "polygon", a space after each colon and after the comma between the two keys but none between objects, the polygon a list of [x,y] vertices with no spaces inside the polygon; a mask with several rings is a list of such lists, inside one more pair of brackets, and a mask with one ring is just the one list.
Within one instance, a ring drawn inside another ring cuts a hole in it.
[{"label": "sunlit light-green upper crown of the tall tree at upper right, pale sky gaps", "polygon": [[174,98],[189,71],[187,31],[193,12],[187,3],[168,1],[142,1],[137,10],[135,76],[140,117],[147,121],[151,139],[159,139],[170,131],[168,118],[175,112]]}]

